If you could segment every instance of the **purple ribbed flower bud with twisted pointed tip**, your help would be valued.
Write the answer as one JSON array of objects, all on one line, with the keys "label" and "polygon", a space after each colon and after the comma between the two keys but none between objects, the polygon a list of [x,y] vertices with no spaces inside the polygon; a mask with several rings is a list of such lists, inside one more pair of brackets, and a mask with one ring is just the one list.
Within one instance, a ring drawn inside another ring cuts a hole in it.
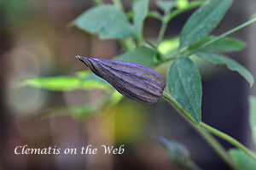
[{"label": "purple ribbed flower bud with twisted pointed tip", "polygon": [[98,77],[109,82],[120,94],[149,105],[162,96],[166,87],[163,77],[152,69],[136,63],[76,56]]}]

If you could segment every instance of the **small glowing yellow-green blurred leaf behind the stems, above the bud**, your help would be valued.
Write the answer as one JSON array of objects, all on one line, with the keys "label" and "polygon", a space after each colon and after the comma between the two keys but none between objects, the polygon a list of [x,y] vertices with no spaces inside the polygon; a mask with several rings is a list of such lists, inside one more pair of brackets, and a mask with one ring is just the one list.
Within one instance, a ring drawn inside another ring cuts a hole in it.
[{"label": "small glowing yellow-green blurred leaf behind the stems, above the bud", "polygon": [[158,46],[158,51],[160,54],[169,54],[175,49],[178,48],[179,45],[179,38],[172,38],[169,40],[164,40],[163,42],[160,42],[160,45]]}]

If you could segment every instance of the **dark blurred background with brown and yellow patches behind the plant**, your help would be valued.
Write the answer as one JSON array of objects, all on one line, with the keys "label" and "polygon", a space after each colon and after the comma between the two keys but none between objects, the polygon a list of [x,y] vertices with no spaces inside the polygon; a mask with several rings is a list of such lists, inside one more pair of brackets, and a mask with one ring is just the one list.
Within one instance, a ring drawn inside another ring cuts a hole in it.
[{"label": "dark blurred background with brown and yellow patches behind the plant", "polygon": [[[110,1],[104,1],[111,3]],[[131,8],[131,1],[124,1]],[[83,105],[95,99],[94,92],[75,90],[52,92],[20,87],[28,77],[73,76],[84,65],[75,55],[112,58],[122,51],[113,40],[101,41],[76,28],[67,29],[68,22],[87,8],[92,0],[2,0],[0,1],[0,169],[178,169],[168,161],[160,143],[166,139],[186,144],[192,159],[203,169],[229,169],[214,151],[178,116],[164,100],[154,105],[140,105],[122,100],[108,116],[92,116],[80,121],[72,116],[59,116],[39,121],[38,111],[55,107]],[[150,1],[151,10],[159,10]],[[212,32],[219,35],[238,26],[256,11],[254,0],[235,0],[228,14]],[[175,37],[189,14],[169,24],[166,37]],[[158,20],[148,19],[144,36],[155,41],[160,28]],[[228,54],[256,75],[256,25],[237,31],[232,37],[247,42],[247,48]],[[254,149],[248,127],[248,94],[256,88],[236,72],[224,66],[201,70],[203,85],[202,120]],[[163,75],[165,76],[165,75]],[[231,148],[220,140],[226,148]],[[119,147],[122,155],[15,155],[15,147],[55,147],[64,150],[92,144]]]}]

